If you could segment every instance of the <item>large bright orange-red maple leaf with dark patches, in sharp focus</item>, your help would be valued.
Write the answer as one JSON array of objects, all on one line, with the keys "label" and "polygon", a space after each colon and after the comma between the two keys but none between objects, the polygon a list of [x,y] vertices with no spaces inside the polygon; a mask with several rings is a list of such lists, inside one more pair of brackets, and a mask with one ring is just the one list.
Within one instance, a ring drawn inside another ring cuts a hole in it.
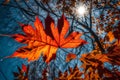
[{"label": "large bright orange-red maple leaf with dark patches, in sharp focus", "polygon": [[81,33],[72,32],[66,35],[69,29],[69,22],[62,16],[55,27],[54,20],[48,15],[45,19],[45,28],[42,22],[36,17],[34,28],[31,25],[21,24],[23,34],[14,34],[13,38],[27,44],[19,48],[9,57],[27,58],[28,61],[39,59],[41,54],[46,57],[45,62],[50,62],[56,55],[58,48],[76,48],[86,41],[80,39]]}]

